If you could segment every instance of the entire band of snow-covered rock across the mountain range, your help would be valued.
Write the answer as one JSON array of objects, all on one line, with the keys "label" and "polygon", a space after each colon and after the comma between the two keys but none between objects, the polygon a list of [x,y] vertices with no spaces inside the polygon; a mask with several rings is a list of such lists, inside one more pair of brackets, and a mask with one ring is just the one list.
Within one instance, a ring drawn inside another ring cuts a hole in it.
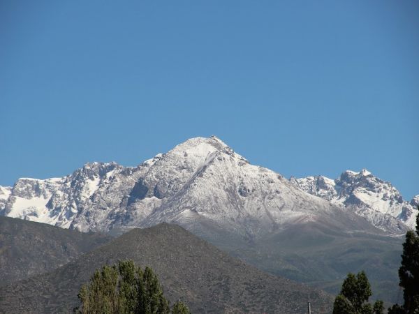
[{"label": "entire band of snow-covered rock across the mountain range", "polygon": [[[0,189],[0,214],[81,231],[174,221],[198,233],[211,225],[249,239],[309,222],[375,232],[373,223],[392,234],[403,233],[404,224],[390,215],[399,209],[385,207],[399,204],[394,193],[388,195],[392,202],[385,203],[360,186],[357,200],[371,203],[373,197],[381,209],[367,216],[337,206],[355,202],[340,195],[350,194],[355,178],[372,176],[362,173],[347,172],[340,181],[288,181],[251,165],[215,136],[196,137],[138,167],[87,163],[58,179],[19,179],[12,188]],[[409,214],[410,208],[403,212]]]}]

